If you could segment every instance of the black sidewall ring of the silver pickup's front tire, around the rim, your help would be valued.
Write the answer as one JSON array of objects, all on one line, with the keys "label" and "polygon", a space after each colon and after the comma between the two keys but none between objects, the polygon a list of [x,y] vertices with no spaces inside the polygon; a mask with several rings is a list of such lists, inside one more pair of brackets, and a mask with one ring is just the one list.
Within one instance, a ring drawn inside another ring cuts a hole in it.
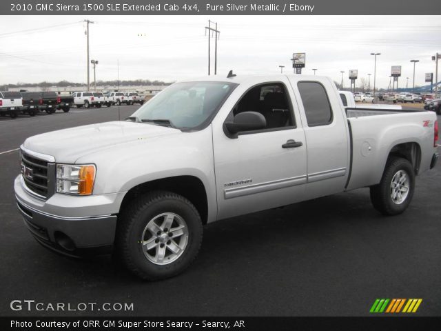
[{"label": "black sidewall ring of the silver pickup's front tire, around the rim", "polygon": [[[185,251],[176,261],[165,265],[156,265],[145,257],[142,245],[139,243],[147,223],[164,212],[178,214],[187,224],[188,242]],[[146,208],[139,210],[132,220],[132,226],[127,234],[127,251],[134,267],[148,279],[163,279],[172,277],[187,268],[196,256],[201,245],[202,223],[198,212],[192,205],[173,197],[163,197],[152,201]]]}]

